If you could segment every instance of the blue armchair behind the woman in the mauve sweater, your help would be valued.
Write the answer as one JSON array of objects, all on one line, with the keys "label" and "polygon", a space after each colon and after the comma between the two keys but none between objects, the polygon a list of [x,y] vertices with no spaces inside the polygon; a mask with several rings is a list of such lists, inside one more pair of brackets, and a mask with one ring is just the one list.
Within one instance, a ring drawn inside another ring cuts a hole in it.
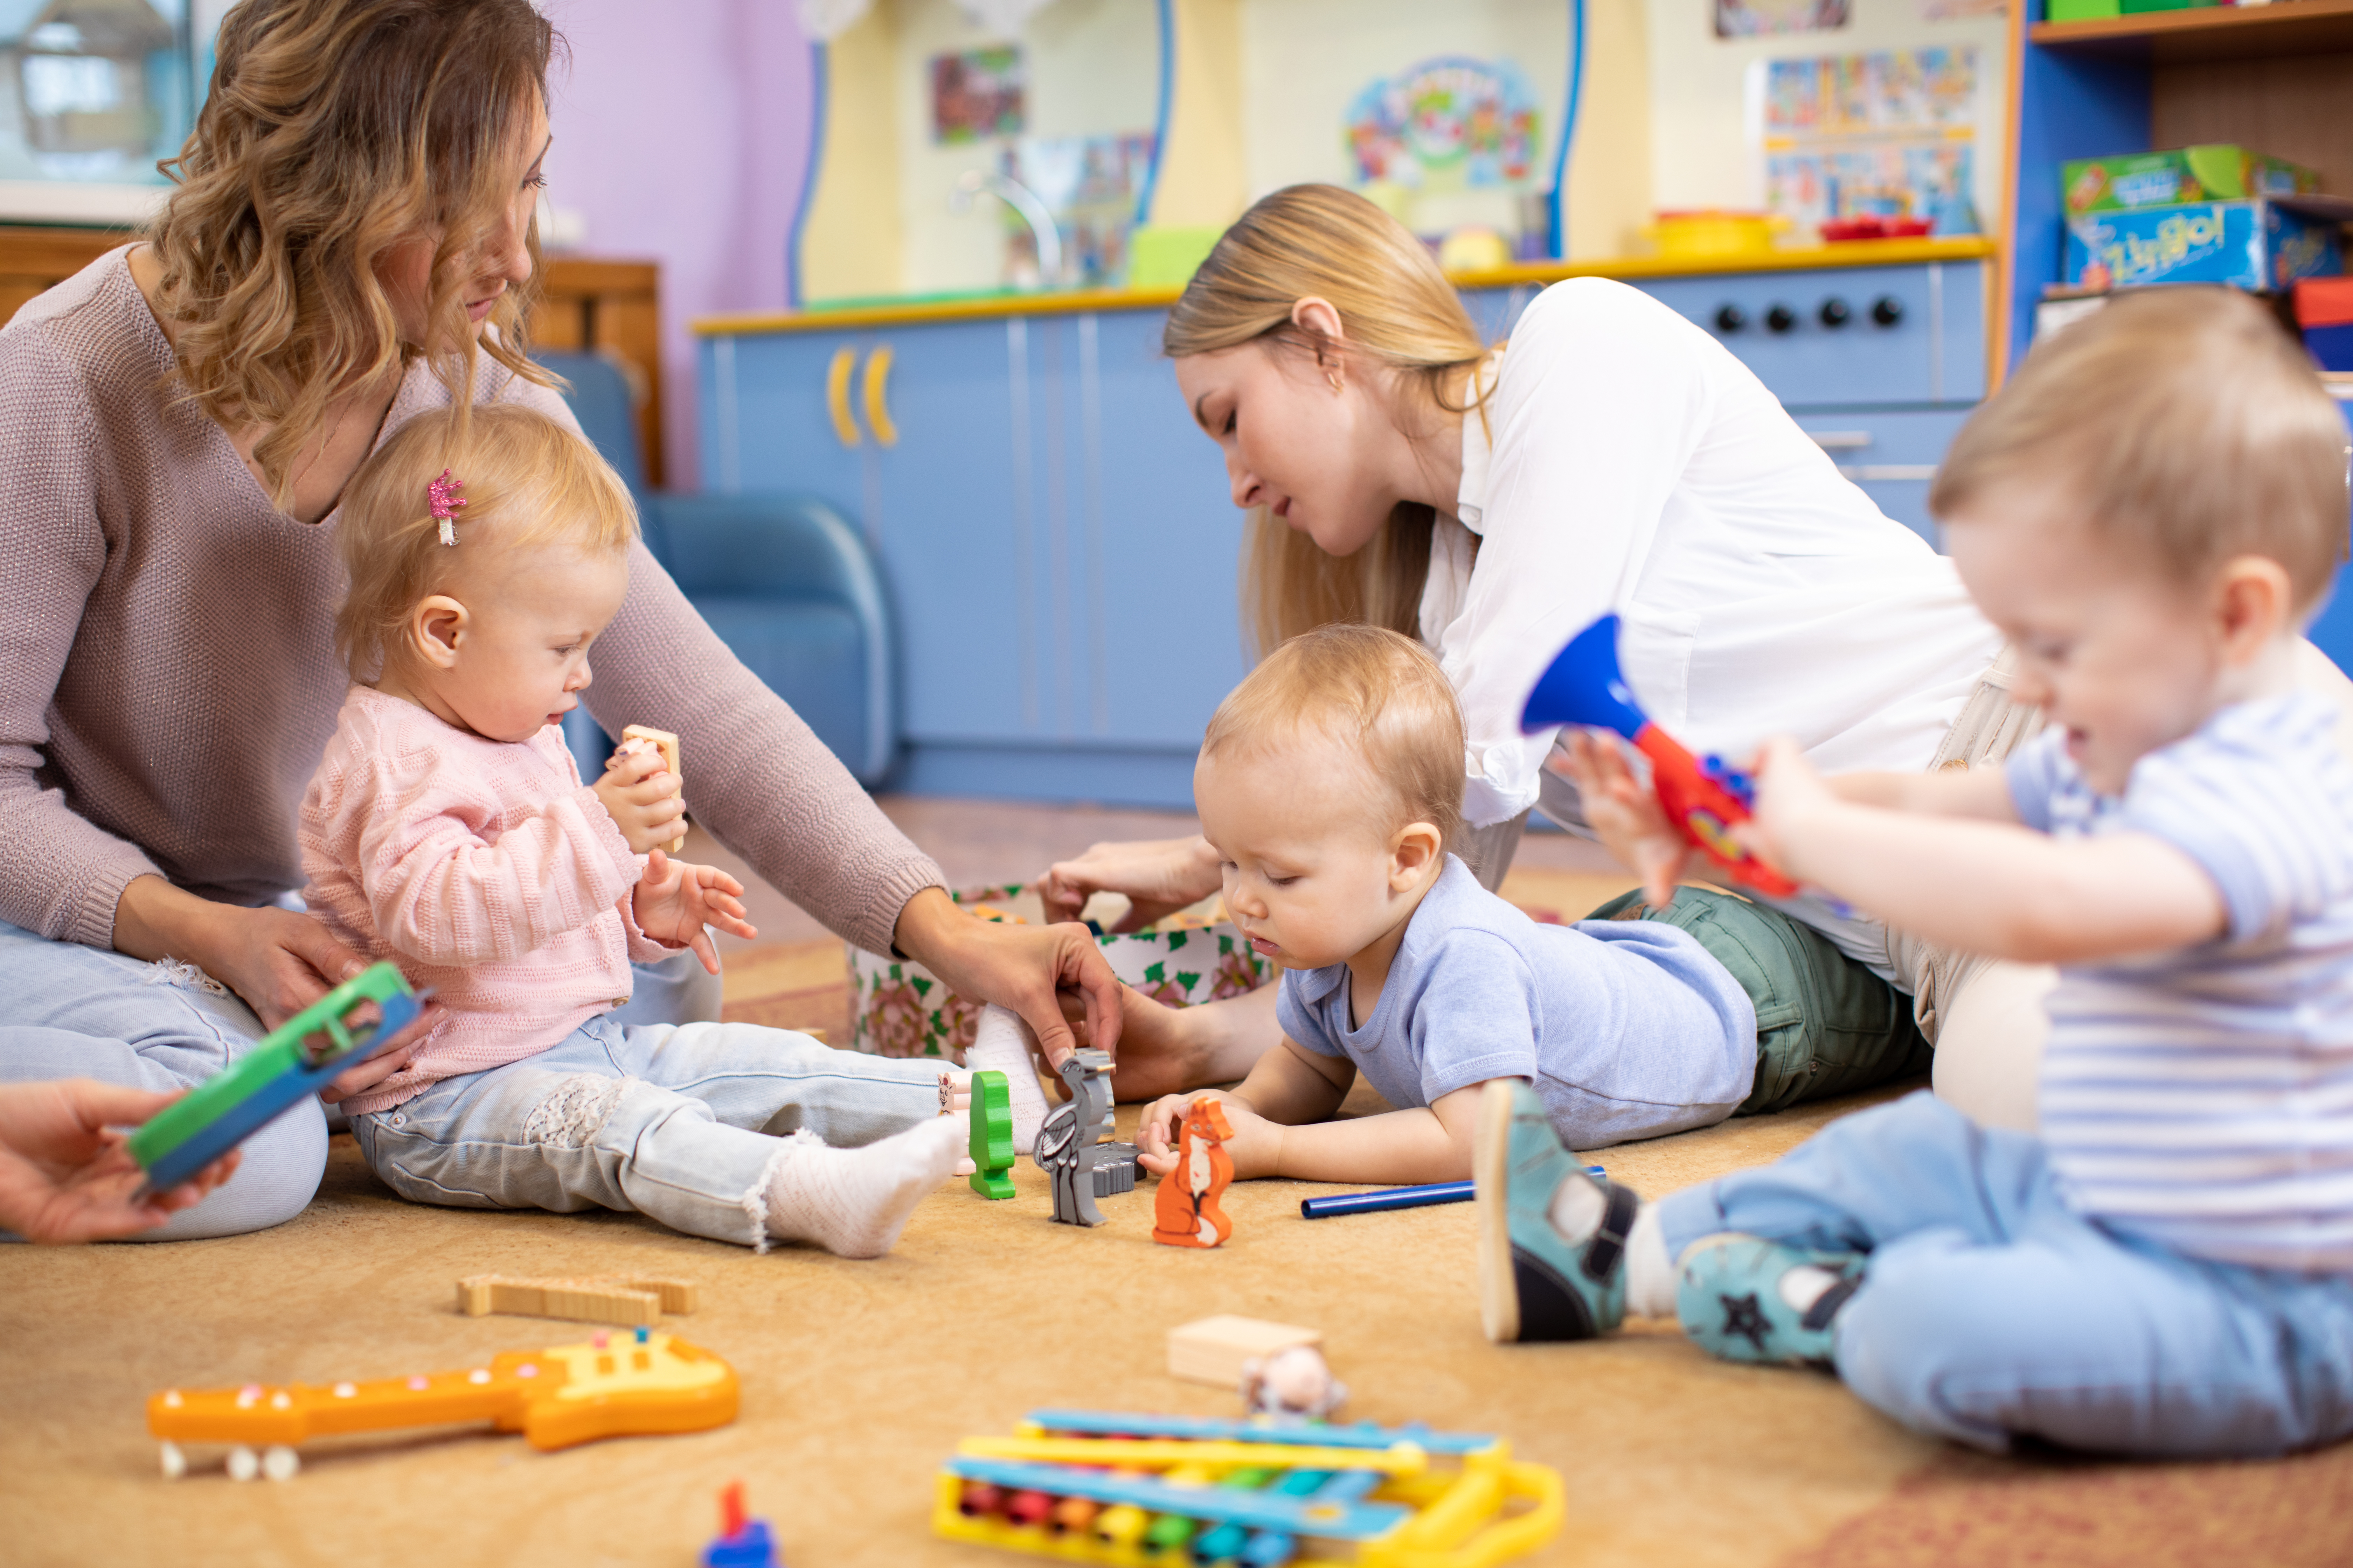
[{"label": "blue armchair behind the woman in the mauve sweater", "polygon": [[[816,731],[859,783],[882,783],[899,750],[889,604],[859,531],[807,496],[664,496],[645,489],[628,378],[602,355],[541,353],[565,402],[638,498],[645,545],[767,689]],[[593,776],[612,741],[586,708],[565,738]]]}]

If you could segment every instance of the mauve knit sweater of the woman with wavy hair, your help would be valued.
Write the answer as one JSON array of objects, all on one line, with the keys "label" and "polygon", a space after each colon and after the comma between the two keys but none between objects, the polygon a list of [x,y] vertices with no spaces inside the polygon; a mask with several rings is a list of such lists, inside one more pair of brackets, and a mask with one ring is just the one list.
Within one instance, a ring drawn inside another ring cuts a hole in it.
[{"label": "mauve knit sweater of the woman with wavy hair", "polygon": [[[294,816],[351,686],[336,515],[275,510],[179,395],[125,256],[0,331],[0,919],[92,947],[113,945],[139,875],[245,905],[301,884]],[[489,357],[473,395],[572,423]],[[447,402],[416,364],[384,435]],[[678,733],[694,818],[826,926],[889,952],[939,867],[642,545],[595,651],[598,722]]]}]

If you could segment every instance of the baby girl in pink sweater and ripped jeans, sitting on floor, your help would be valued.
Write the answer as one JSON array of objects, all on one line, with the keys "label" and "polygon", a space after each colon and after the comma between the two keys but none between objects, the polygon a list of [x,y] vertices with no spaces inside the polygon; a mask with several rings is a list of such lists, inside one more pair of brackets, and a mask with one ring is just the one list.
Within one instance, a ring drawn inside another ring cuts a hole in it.
[{"label": "baby girl in pink sweater and ripped jeans, sitting on floor", "polygon": [[445,1009],[346,1103],[353,1133],[419,1204],[635,1208],[882,1255],[965,1140],[936,1065],[607,1016],[631,961],[692,947],[718,973],[706,926],[753,936],[734,877],[659,849],[685,811],[661,757],[581,785],[558,729],[635,534],[612,468],[520,404],[419,414],[351,484],[336,635],[358,684],[304,797],[306,898]]}]

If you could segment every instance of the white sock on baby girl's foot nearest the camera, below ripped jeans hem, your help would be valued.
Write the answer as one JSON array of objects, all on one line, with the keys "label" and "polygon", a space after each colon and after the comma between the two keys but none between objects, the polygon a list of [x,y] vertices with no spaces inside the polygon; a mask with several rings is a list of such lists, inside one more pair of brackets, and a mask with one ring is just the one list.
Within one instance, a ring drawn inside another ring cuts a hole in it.
[{"label": "white sock on baby girl's foot nearest the camera, below ripped jeans hem", "polygon": [[967,1135],[958,1117],[934,1117],[864,1150],[835,1150],[800,1131],[767,1161],[744,1206],[765,1208],[760,1218],[776,1241],[814,1241],[840,1258],[880,1258],[899,1241],[915,1204],[948,1180]]}]

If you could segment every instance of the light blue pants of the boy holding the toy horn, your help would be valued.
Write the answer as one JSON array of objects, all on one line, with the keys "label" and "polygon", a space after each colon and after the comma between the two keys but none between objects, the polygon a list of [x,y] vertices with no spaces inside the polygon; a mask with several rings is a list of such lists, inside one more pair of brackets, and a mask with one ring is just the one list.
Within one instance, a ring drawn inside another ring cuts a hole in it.
[{"label": "light blue pants of the boy holding the toy horn", "polygon": [[2353,1276],[2200,1262],[2066,1208],[2038,1138],[1927,1091],[1659,1204],[1668,1255],[1746,1232],[1868,1253],[1838,1375],[1906,1427],[2005,1450],[2268,1455],[2353,1432]]}]

